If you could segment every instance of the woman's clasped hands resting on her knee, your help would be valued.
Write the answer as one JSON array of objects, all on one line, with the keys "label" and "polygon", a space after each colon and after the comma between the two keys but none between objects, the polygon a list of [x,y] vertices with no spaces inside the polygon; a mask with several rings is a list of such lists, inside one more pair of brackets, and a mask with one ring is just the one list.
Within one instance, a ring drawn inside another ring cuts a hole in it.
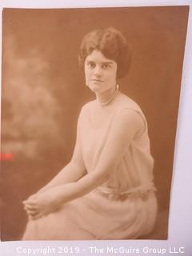
[{"label": "woman's clasped hands resting on her knee", "polygon": [[61,204],[61,188],[54,187],[41,193],[33,194],[23,201],[29,219],[41,218],[56,210]]}]

